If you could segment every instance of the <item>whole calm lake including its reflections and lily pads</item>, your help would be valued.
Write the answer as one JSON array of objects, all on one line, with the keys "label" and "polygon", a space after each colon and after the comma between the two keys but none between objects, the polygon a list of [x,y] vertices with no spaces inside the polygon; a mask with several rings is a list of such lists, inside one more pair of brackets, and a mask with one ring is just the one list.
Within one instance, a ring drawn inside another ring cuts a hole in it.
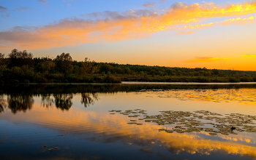
[{"label": "whole calm lake including its reflections and lily pads", "polygon": [[256,159],[256,84],[0,87],[1,159]]}]

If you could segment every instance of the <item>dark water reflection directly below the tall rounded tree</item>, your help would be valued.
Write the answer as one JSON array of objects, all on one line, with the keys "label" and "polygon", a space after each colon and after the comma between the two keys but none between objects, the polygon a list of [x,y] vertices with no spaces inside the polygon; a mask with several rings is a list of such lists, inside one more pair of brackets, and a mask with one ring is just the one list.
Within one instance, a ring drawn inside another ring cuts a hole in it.
[{"label": "dark water reflection directly below the tall rounded tree", "polygon": [[60,108],[61,111],[68,111],[69,108],[71,108],[73,94],[55,94],[53,97],[55,99],[56,108]]}]

